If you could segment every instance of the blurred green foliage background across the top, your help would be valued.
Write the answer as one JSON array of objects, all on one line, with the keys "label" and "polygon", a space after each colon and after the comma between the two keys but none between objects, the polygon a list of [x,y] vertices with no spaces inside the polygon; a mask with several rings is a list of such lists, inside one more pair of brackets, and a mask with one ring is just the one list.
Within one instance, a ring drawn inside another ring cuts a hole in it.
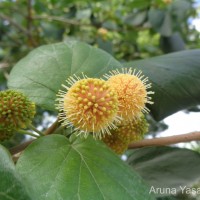
[{"label": "blurred green foliage background across the top", "polygon": [[119,60],[199,47],[192,0],[0,1],[1,69],[31,49],[81,40]]}]

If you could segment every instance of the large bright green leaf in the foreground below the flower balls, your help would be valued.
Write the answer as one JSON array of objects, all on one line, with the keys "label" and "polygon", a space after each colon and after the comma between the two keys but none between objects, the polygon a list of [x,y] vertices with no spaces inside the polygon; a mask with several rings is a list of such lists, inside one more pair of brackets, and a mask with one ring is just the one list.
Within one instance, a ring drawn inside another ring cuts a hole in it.
[{"label": "large bright green leaf in the foreground below the flower balls", "polygon": [[141,178],[93,138],[61,135],[33,142],[17,162],[33,199],[154,199]]}]

